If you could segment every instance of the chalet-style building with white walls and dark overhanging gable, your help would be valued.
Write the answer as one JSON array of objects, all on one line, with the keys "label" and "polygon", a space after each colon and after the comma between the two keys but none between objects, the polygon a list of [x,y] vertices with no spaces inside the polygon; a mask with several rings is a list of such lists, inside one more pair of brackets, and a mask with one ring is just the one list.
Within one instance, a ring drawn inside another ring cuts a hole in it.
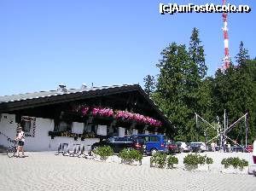
[{"label": "chalet-style building with white walls and dark overhanging gable", "polygon": [[[93,113],[95,108],[108,110],[110,116]],[[140,113],[162,125],[118,118],[118,111]],[[9,147],[18,124],[25,131],[26,151],[57,150],[60,143],[92,145],[108,136],[172,130],[168,119],[137,84],[92,88],[83,85],[70,90],[60,85],[58,90],[0,96],[0,145]]]}]

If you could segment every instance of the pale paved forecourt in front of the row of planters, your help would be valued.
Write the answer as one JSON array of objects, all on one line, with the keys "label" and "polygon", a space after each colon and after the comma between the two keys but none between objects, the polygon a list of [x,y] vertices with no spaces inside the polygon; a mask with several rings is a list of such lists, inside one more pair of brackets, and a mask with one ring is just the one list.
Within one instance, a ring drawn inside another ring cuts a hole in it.
[{"label": "pale paved forecourt in front of the row of planters", "polygon": [[256,190],[256,177],[131,166],[26,153],[0,155],[0,190]]}]

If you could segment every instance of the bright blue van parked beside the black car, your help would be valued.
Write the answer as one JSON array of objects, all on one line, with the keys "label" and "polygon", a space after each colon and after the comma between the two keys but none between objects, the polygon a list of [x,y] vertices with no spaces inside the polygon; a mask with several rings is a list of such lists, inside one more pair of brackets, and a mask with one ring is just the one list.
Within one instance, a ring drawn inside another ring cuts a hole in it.
[{"label": "bright blue van parked beside the black car", "polygon": [[156,152],[169,153],[167,148],[167,137],[164,135],[144,135],[140,134],[137,137],[143,138],[146,145],[146,153],[153,154]]}]

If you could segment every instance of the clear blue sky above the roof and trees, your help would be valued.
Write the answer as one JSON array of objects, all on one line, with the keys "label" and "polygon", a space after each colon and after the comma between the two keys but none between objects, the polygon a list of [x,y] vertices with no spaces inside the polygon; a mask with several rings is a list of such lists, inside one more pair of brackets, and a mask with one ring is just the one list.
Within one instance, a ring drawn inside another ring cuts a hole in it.
[{"label": "clear blue sky above the roof and trees", "polygon": [[[169,43],[189,43],[200,30],[208,75],[221,66],[221,14],[159,14],[159,3],[221,3],[221,0],[1,0],[0,96],[55,90],[58,84],[142,84]],[[229,14],[230,55],[242,40],[256,57],[256,4],[249,14]]]}]

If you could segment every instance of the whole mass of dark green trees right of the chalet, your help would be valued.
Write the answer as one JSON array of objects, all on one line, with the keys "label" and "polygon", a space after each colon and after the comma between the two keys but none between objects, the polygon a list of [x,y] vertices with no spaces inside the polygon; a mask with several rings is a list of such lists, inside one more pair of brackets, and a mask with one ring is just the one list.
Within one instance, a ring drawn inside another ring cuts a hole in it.
[{"label": "whole mass of dark green trees right of the chalet", "polygon": [[[175,133],[166,130],[168,136],[178,141],[205,141],[207,124],[195,124],[195,113],[213,125],[224,124],[224,109],[228,124],[248,113],[248,143],[256,136],[256,60],[249,60],[247,49],[240,44],[236,55],[237,66],[232,62],[224,72],[218,69],[214,78],[206,77],[207,67],[199,32],[194,29],[185,45],[171,43],[161,52],[157,67],[160,73],[156,89],[151,93],[154,102],[173,124]],[[245,122],[227,134],[239,144],[245,143]],[[216,136],[212,128],[207,130],[208,140]]]}]

